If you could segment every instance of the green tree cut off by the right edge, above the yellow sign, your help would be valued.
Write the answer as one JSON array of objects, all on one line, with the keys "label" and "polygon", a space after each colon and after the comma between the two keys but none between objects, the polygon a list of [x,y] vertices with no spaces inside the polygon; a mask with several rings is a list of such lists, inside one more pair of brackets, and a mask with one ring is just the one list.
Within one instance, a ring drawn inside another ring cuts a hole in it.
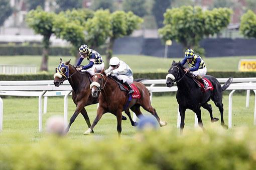
[{"label": "green tree cut off by the right edge, above the yellow sign", "polygon": [[256,14],[252,10],[242,15],[239,29],[245,37],[256,38]]}]

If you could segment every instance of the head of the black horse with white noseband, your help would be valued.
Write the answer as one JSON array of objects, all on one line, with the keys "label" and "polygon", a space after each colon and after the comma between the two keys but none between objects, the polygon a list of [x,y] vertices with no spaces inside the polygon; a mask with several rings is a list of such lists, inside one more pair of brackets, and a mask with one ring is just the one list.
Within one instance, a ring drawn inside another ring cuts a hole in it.
[{"label": "head of the black horse with white noseband", "polygon": [[179,62],[175,62],[173,60],[170,69],[168,70],[168,74],[166,75],[166,85],[168,87],[173,86],[174,82],[177,82],[181,79],[180,70],[183,70],[182,66]]}]

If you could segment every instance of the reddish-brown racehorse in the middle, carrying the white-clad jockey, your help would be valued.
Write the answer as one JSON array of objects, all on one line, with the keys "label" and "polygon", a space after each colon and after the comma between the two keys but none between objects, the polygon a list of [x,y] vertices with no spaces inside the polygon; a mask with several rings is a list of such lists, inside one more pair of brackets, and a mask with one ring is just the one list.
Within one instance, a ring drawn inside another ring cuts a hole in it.
[{"label": "reddish-brown racehorse in the middle, carrying the white-clad jockey", "polygon": [[[103,72],[96,72],[92,77],[92,83],[90,85],[91,95],[94,97],[99,97],[99,107],[97,109],[97,115],[91,125],[91,127],[84,132],[84,134],[89,134],[97,122],[100,120],[101,116],[110,112],[116,115],[117,119],[117,132],[120,137],[121,133],[121,113],[125,111],[125,113],[129,116],[131,122],[132,117],[129,111],[129,108],[136,113],[136,115],[140,118],[142,116],[142,112],[140,107],[142,106],[145,110],[149,111],[153,114],[158,120],[160,126],[164,126],[167,122],[162,121],[155,108],[152,107],[150,103],[150,92],[147,87],[141,83],[134,81],[133,83],[137,86],[141,97],[140,98],[132,98],[129,101],[129,95],[126,95],[126,91],[122,91],[119,88],[118,83],[111,78],[111,76],[106,76]],[[135,122],[136,123],[136,122]]]}]

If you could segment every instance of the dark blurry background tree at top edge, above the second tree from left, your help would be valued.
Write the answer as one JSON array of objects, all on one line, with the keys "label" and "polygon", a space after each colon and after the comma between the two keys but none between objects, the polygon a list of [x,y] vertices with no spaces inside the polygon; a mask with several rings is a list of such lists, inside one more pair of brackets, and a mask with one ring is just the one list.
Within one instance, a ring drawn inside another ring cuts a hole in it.
[{"label": "dark blurry background tree at top edge, above the second tree from left", "polygon": [[82,8],[82,1],[83,0],[56,0],[56,3],[59,5],[57,12],[72,8]]}]

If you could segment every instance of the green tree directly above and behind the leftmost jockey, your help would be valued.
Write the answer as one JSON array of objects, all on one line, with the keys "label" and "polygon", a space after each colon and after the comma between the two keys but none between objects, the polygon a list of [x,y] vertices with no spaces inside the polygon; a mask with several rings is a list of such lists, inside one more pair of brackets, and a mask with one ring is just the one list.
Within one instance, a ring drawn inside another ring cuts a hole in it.
[{"label": "green tree directly above and behind the leftmost jockey", "polygon": [[88,18],[92,17],[92,11],[87,9],[67,10],[60,12],[54,19],[54,32],[59,38],[69,41],[73,48],[71,53],[77,55],[77,48],[84,42],[84,28]]}]

